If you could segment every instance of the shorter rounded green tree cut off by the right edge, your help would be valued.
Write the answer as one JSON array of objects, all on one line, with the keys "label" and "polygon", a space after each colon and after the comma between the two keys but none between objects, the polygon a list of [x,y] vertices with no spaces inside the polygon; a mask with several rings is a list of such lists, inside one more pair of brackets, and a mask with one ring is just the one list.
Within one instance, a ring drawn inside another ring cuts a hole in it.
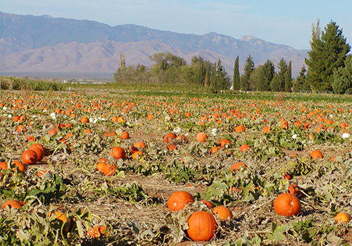
[{"label": "shorter rounded green tree cut off by the right edge", "polygon": [[335,93],[351,94],[352,92],[352,56],[346,57],[344,67],[339,67],[332,75],[332,89]]}]

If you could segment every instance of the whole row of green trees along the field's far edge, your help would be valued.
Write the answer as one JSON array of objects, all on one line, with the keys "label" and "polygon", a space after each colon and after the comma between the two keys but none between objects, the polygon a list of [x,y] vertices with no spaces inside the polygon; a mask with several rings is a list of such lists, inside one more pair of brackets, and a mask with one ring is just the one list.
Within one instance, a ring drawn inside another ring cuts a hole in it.
[{"label": "whole row of green trees along the field's far edge", "polygon": [[239,73],[239,57],[234,61],[233,79],[225,70],[222,61],[216,63],[194,56],[191,64],[172,53],[155,53],[150,57],[151,67],[125,64],[125,56],[120,55],[120,65],[114,74],[115,82],[170,83],[206,86],[212,91],[234,89],[236,91],[334,91],[352,93],[351,46],[339,30],[336,22],[329,22],[325,30],[320,30],[319,20],[312,25],[310,51],[298,77],[291,76],[291,61],[282,58],[277,71],[272,60],[263,65],[254,64],[248,56],[244,72]]}]

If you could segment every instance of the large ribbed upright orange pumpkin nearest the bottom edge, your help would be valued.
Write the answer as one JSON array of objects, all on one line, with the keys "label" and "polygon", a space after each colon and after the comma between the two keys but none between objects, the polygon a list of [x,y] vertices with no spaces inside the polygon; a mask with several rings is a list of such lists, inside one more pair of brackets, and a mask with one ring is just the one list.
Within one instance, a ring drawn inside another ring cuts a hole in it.
[{"label": "large ribbed upright orange pumpkin nearest the bottom edge", "polygon": [[187,234],[194,241],[208,241],[213,238],[218,224],[213,214],[205,211],[196,211],[187,221]]}]

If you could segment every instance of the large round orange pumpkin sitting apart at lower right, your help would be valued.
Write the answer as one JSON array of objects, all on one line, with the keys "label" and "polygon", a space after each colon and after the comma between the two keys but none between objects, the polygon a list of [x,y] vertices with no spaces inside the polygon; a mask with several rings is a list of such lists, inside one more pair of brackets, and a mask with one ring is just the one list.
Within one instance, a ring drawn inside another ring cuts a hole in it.
[{"label": "large round orange pumpkin sitting apart at lower right", "polygon": [[274,209],[277,215],[294,216],[301,212],[301,202],[294,194],[282,193],[275,199]]}]

